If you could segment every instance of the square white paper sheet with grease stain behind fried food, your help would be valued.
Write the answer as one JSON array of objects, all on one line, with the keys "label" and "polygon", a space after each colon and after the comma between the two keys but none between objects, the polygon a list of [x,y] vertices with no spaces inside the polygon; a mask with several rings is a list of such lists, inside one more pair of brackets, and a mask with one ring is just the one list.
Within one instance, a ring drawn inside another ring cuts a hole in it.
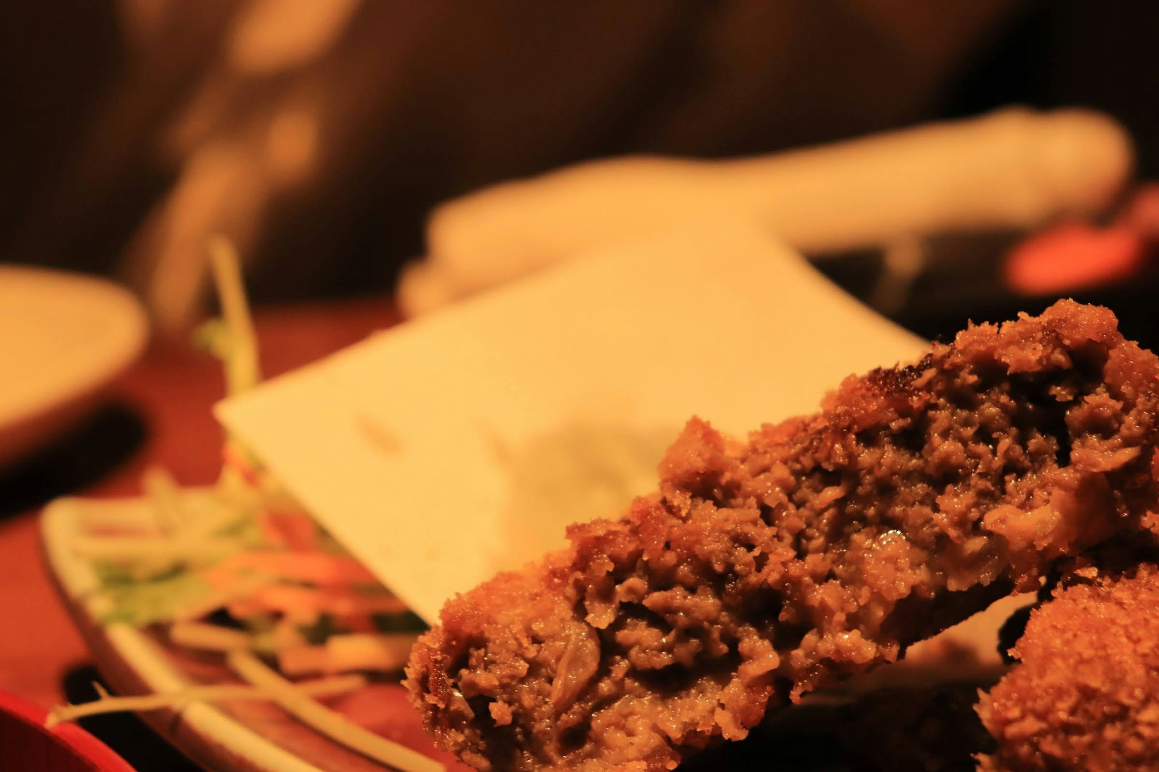
[{"label": "square white paper sheet with grease stain behind fried food", "polygon": [[376,334],[217,414],[432,620],[653,488],[690,416],[743,434],[921,348],[757,227],[706,221]]}]

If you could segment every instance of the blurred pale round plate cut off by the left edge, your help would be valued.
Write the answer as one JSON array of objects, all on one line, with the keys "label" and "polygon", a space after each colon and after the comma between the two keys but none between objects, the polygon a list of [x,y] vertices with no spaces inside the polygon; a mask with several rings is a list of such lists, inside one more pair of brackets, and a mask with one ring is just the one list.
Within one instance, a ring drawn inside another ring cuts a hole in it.
[{"label": "blurred pale round plate cut off by the left edge", "polygon": [[140,303],[110,281],[0,265],[0,465],[67,425],[147,332]]}]

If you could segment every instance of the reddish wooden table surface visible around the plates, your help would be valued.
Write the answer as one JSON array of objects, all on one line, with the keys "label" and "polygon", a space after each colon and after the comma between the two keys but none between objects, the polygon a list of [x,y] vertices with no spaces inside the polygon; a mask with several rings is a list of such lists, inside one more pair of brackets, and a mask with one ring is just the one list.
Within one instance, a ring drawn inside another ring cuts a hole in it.
[{"label": "reddish wooden table surface visible around the plates", "polygon": [[[398,318],[386,299],[258,310],[263,373],[305,365]],[[141,473],[152,465],[167,468],[182,484],[212,481],[220,466],[221,433],[210,407],[223,390],[220,365],[194,351],[188,338],[154,340],[109,395],[144,420],[141,447],[76,493],[136,495]],[[49,579],[37,514],[0,520],[0,691],[50,707],[64,700],[63,675],[85,663],[87,653]]]}]

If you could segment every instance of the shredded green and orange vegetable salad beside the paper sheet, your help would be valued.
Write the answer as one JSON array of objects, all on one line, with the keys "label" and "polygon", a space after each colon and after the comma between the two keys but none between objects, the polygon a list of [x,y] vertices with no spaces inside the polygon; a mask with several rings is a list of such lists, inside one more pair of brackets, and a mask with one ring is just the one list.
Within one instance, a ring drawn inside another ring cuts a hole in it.
[{"label": "shredded green and orange vegetable salad beside the paper sheet", "polygon": [[[221,318],[198,328],[194,344],[221,360],[226,391],[236,395],[261,380],[257,343],[233,245],[216,237],[209,247]],[[90,560],[96,573],[100,587],[93,609],[102,623],[172,623],[174,645],[225,654],[235,672],[257,688],[206,685],[126,699],[102,694],[94,705],[59,708],[56,720],[181,706],[223,696],[268,698],[337,742],[395,769],[442,771],[440,764],[313,701],[316,694],[352,691],[366,683],[365,677],[296,684],[254,656],[284,663],[296,653],[307,659],[321,653],[330,657],[316,666],[323,671],[385,671],[395,667],[399,647],[408,647],[427,625],[410,611],[369,613],[369,609],[401,604],[393,597],[385,603],[373,597],[391,593],[365,581],[365,569],[351,565],[350,553],[308,519],[243,443],[227,436],[225,456],[217,485],[210,490],[182,488],[165,470],[151,470],[144,479],[148,506],[133,519],[136,530],[118,530],[112,519],[89,523],[89,531],[74,538],[73,550]],[[322,611],[330,608],[325,603],[328,596],[350,602],[336,608],[353,610],[342,611],[347,615],[342,617]],[[350,633],[370,627],[399,633],[392,639],[395,659],[385,664],[374,657],[350,659],[350,644],[356,655],[365,648],[358,647],[363,635]],[[331,640],[335,635],[348,638]],[[338,655],[343,644],[348,645],[345,661]],[[306,669],[311,667],[315,666],[307,662]]]}]

